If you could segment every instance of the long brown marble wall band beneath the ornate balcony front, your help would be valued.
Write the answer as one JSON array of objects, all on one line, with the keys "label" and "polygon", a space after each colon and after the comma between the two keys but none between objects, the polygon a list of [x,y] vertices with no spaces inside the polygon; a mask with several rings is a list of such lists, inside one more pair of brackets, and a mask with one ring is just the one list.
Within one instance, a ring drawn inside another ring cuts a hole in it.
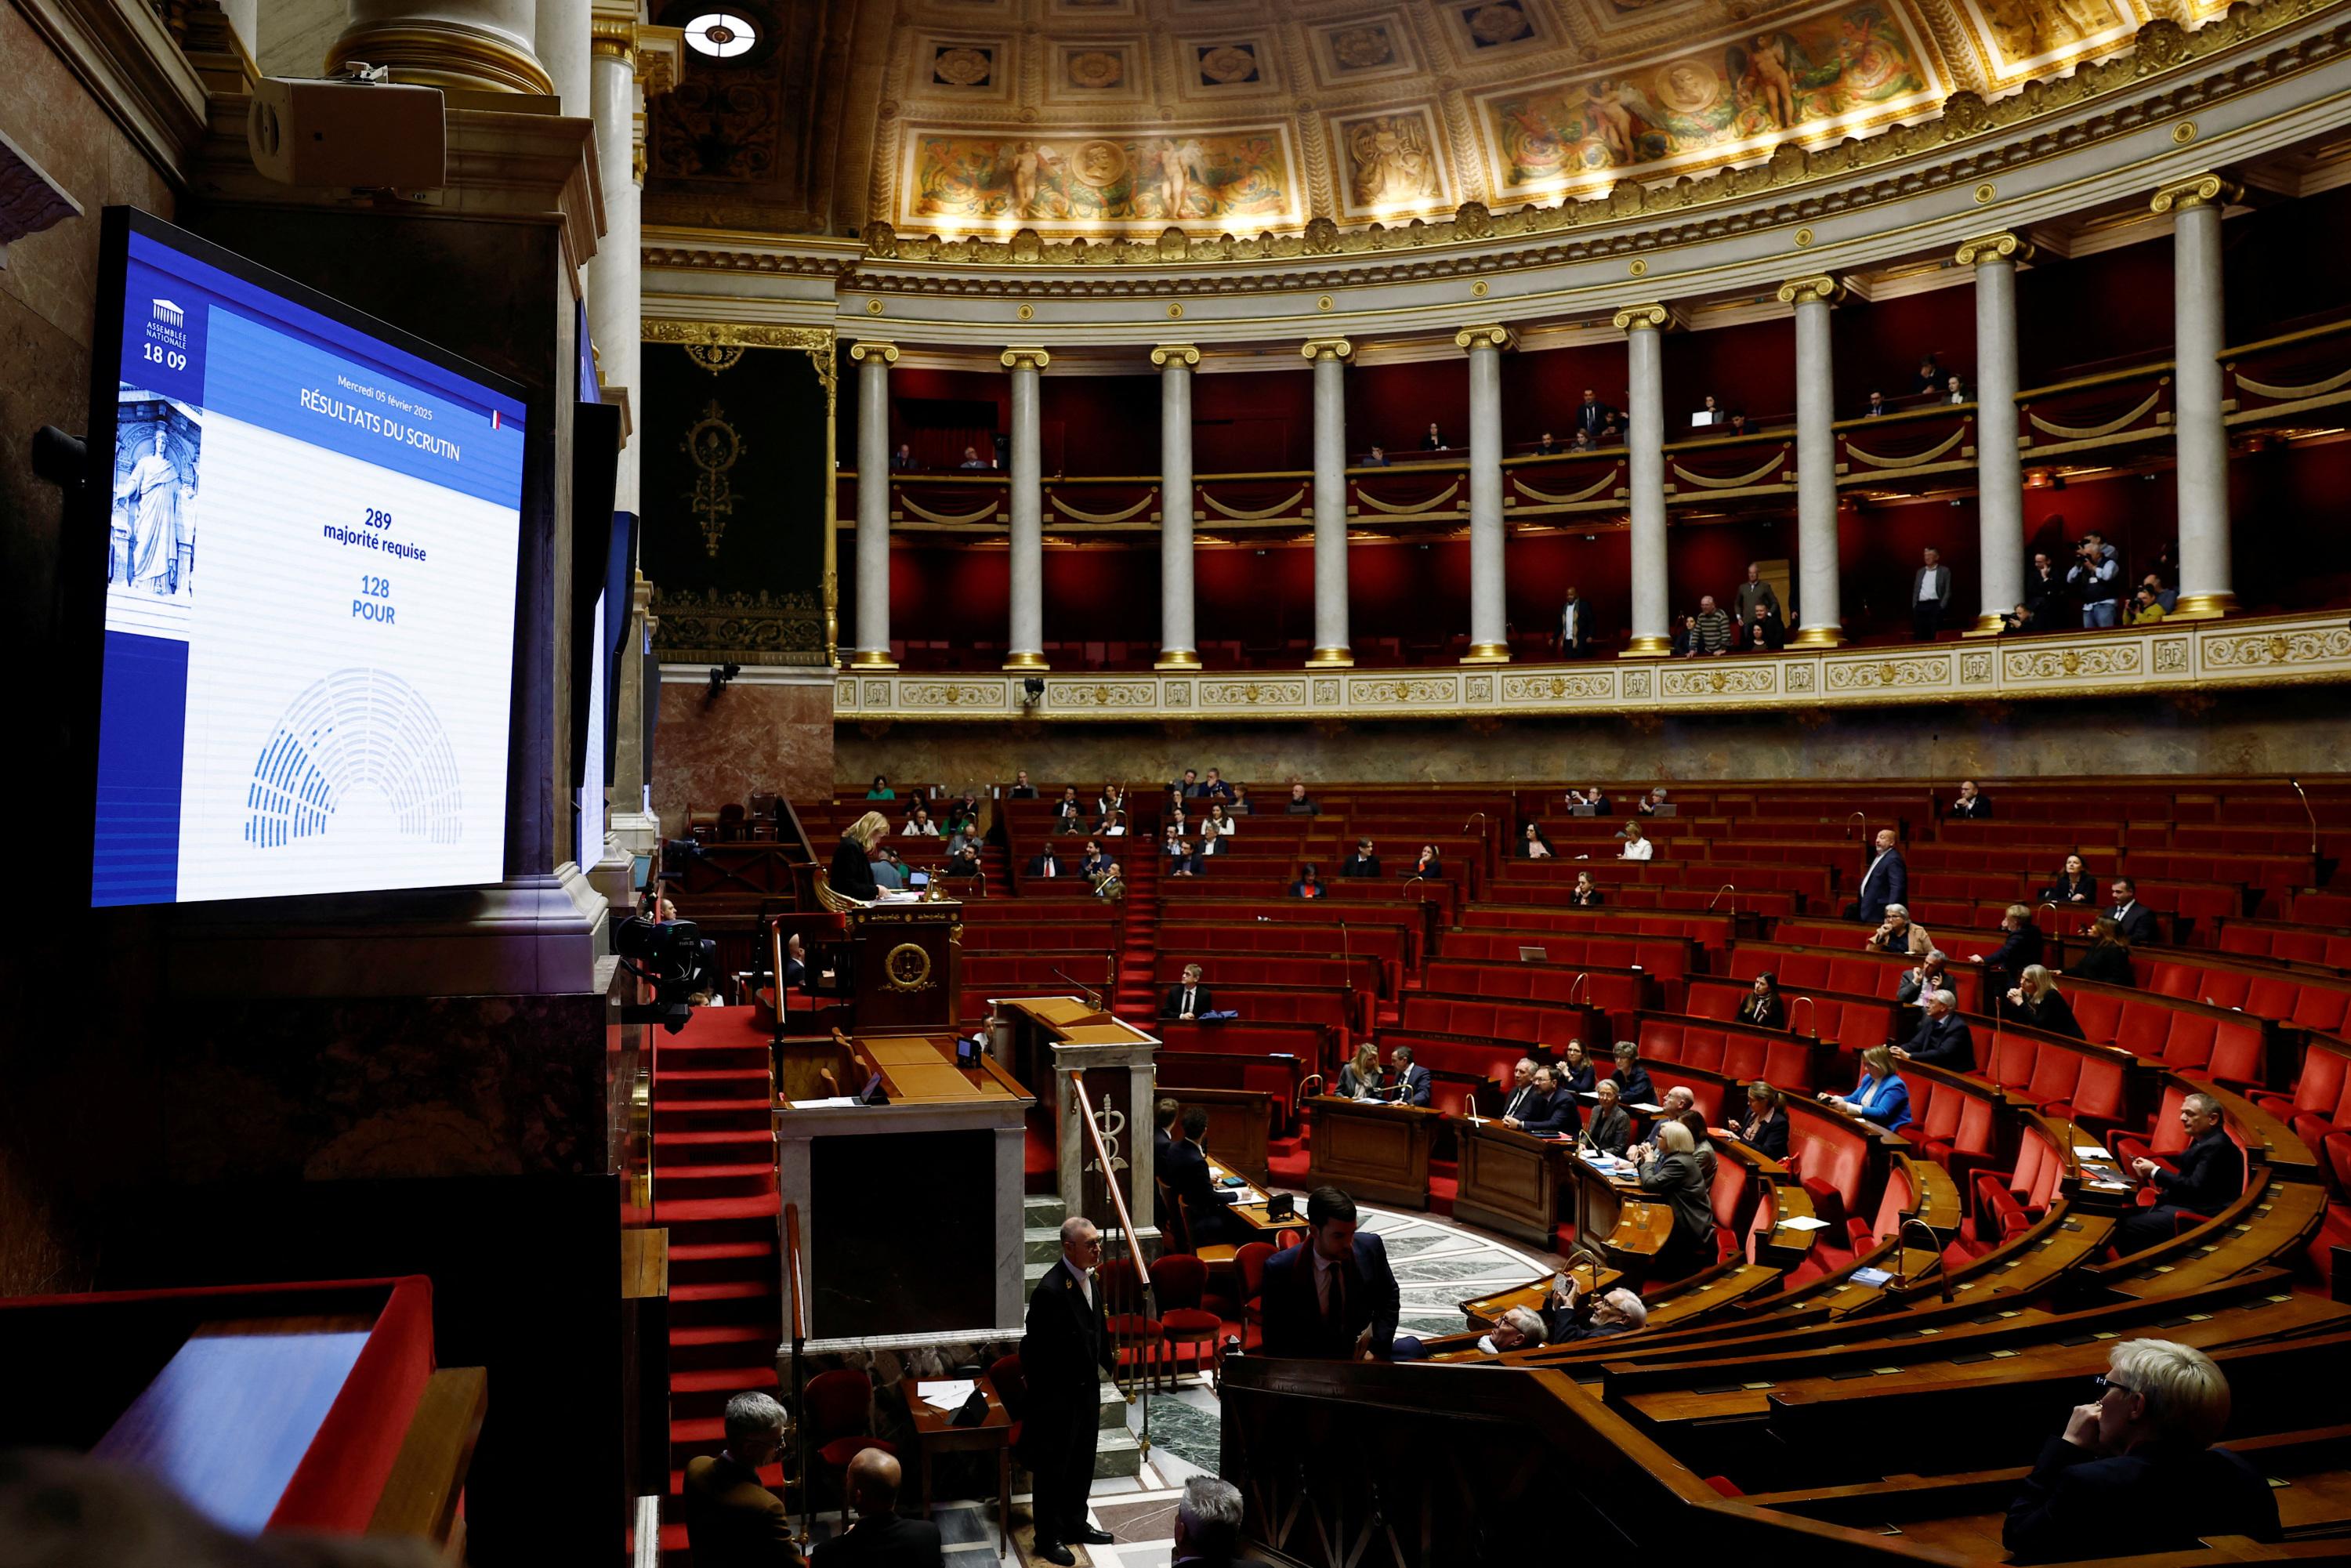
[{"label": "long brown marble wall band beneath the ornate balcony front", "polygon": [[1215,764],[1253,790],[1359,783],[1933,780],[2342,773],[2351,726],[2290,691],[2226,705],[2111,703],[1871,708],[1843,715],[1500,724],[844,724],[835,788],[891,778],[1173,778]]}]

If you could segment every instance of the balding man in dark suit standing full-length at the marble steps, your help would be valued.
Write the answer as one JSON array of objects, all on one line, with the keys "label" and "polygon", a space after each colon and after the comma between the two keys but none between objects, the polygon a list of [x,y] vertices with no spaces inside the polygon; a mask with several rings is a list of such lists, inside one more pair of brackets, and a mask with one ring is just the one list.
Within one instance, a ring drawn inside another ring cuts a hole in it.
[{"label": "balding man in dark suit standing full-length at the marble steps", "polygon": [[1020,1460],[1037,1476],[1037,1556],[1072,1568],[1063,1542],[1103,1544],[1107,1530],[1086,1523],[1093,1488],[1093,1443],[1103,1429],[1100,1373],[1110,1361],[1110,1316],[1103,1286],[1086,1272],[1103,1260],[1103,1232],[1086,1215],[1060,1222],[1060,1258],[1030,1293],[1027,1333],[1020,1335]]}]

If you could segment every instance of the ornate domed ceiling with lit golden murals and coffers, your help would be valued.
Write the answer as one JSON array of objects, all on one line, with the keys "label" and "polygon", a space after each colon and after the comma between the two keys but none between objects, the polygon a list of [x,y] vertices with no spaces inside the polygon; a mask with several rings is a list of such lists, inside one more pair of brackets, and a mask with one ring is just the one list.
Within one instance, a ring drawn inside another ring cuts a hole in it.
[{"label": "ornate domed ceiling with lit golden murals and coffers", "polygon": [[1500,212],[1925,120],[2128,49],[2156,14],[2193,26],[2196,2],[860,0],[816,7],[813,40],[790,0],[686,5],[663,21],[773,35],[689,56],[656,99],[651,200],[947,237]]}]

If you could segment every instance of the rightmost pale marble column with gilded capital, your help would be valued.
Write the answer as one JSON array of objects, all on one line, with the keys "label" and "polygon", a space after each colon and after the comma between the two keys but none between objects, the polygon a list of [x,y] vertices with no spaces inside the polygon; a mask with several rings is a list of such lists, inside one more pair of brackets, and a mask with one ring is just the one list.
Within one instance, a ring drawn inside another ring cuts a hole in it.
[{"label": "rightmost pale marble column with gilded capital", "polygon": [[2243,190],[2198,174],[2156,190],[2172,214],[2172,435],[2179,475],[2179,609],[2215,621],[2236,609],[2229,571],[2229,425],[2222,409],[2219,219]]}]

